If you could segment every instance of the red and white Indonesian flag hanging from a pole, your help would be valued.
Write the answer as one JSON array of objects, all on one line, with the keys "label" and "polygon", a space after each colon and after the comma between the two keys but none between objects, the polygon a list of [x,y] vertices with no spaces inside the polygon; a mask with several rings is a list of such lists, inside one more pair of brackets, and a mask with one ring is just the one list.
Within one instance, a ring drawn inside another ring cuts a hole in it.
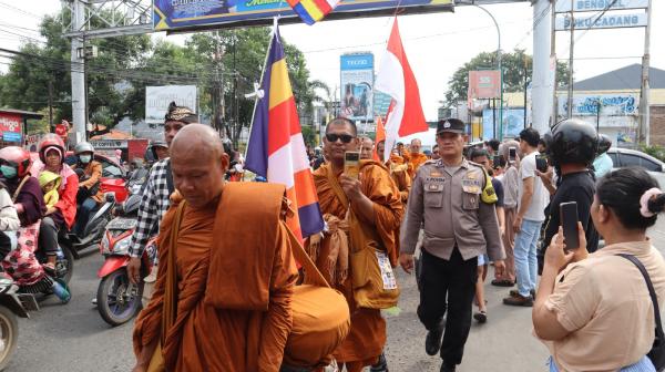
[{"label": "red and white Indonesian flag hanging from a pole", "polygon": [[392,111],[386,120],[386,153],[383,162],[399,137],[413,133],[427,132],[428,126],[420,104],[420,92],[413,71],[409,65],[407,52],[399,35],[397,17],[388,40],[388,50],[375,82],[375,89],[390,95],[393,100]]}]

